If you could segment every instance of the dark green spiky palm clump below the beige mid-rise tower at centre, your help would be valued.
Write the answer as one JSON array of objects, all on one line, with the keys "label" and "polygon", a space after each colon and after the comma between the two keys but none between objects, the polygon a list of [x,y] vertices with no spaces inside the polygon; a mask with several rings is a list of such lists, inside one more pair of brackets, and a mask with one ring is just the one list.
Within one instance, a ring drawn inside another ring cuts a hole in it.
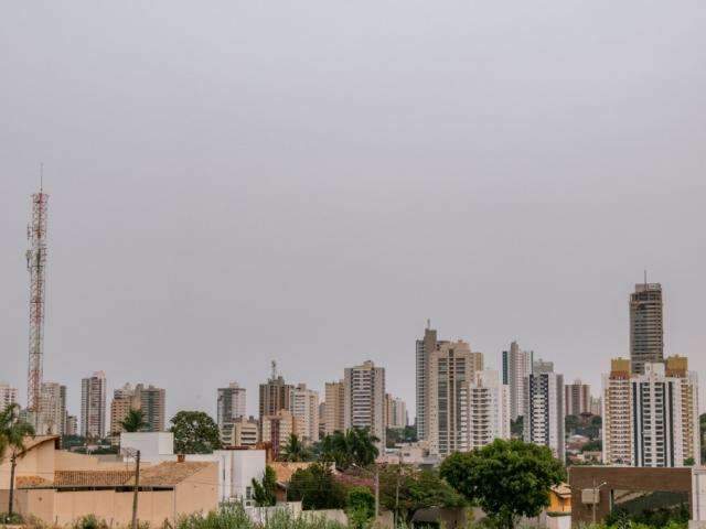
[{"label": "dark green spiky palm clump below the beige mid-rise tower at centre", "polygon": [[352,465],[370,466],[379,453],[375,443],[379,442],[367,428],[353,428],[345,432],[334,432],[321,442],[321,460],[333,462],[340,469]]}]

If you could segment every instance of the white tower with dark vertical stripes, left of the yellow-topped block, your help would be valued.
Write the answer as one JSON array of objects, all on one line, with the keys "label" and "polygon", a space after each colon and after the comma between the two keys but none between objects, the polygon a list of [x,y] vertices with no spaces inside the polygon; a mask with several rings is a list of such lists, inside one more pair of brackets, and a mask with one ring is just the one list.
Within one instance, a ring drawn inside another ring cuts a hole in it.
[{"label": "white tower with dark vertical stripes, left of the yellow-topped block", "polygon": [[554,456],[565,461],[564,376],[537,373],[525,384],[524,440],[552,449]]}]

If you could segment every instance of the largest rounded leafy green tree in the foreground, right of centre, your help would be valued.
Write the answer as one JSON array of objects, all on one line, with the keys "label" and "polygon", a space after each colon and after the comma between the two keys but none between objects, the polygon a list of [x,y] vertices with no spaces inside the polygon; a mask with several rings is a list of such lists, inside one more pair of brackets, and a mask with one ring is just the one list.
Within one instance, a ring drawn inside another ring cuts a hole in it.
[{"label": "largest rounded leafy green tree in the foreground, right of centre", "polygon": [[566,478],[564,465],[547,446],[501,439],[473,452],[451,454],[440,472],[498,527],[507,529],[521,516],[538,516],[549,505],[549,488]]}]

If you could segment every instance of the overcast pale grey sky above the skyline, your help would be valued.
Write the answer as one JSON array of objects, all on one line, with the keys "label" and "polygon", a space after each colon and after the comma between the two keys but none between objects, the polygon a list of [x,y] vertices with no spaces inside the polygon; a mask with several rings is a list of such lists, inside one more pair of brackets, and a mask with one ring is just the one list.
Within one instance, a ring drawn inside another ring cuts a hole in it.
[{"label": "overcast pale grey sky above the skyline", "polygon": [[[29,195],[45,379],[257,409],[367,358],[414,414],[427,317],[598,391],[642,270],[704,375],[706,3],[6,2],[0,379],[25,399]],[[706,385],[706,377],[703,377]]]}]

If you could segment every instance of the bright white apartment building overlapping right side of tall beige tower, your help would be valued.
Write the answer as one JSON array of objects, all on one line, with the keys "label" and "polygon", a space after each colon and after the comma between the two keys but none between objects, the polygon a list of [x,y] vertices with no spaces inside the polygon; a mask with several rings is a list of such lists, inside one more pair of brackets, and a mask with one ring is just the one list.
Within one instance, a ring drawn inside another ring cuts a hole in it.
[{"label": "bright white apartment building overlapping right side of tall beige tower", "polygon": [[510,439],[510,388],[498,371],[475,371],[467,382],[468,450],[480,449],[495,439]]}]

